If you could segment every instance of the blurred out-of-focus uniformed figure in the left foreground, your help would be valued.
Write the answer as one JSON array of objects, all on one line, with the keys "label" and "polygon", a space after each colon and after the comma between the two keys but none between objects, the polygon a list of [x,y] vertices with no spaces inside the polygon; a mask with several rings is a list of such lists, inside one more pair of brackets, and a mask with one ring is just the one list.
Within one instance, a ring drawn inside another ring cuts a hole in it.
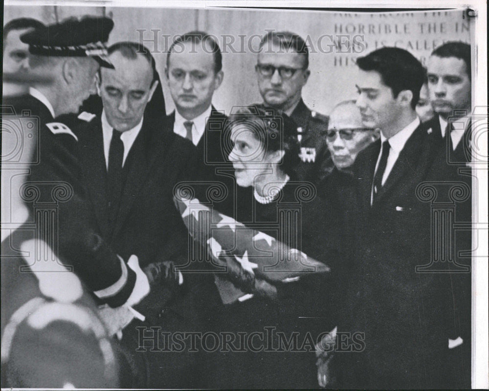
[{"label": "blurred out-of-focus uniformed figure in the left foreground", "polygon": [[[20,86],[42,81],[4,76]],[[119,348],[79,278],[36,238],[24,205],[26,172],[37,155],[29,123],[31,117],[2,113],[1,388],[119,387],[121,372],[131,373],[121,370]]]}]

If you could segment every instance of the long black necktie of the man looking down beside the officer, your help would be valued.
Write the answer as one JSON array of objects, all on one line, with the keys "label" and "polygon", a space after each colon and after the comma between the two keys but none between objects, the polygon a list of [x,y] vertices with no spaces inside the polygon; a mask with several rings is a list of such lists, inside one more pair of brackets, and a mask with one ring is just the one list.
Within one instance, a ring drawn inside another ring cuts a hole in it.
[{"label": "long black necktie of the man looking down beside the officer", "polygon": [[108,170],[108,200],[109,219],[115,218],[114,214],[119,209],[119,201],[122,193],[122,161],[124,158],[124,143],[121,140],[121,132],[113,129],[111,145],[109,147]]}]

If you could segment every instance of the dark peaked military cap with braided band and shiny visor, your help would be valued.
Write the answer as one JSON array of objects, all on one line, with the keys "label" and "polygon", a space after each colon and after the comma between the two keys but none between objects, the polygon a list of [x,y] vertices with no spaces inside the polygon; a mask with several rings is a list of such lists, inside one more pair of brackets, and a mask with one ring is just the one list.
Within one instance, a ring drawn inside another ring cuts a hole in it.
[{"label": "dark peaked military cap with braided band and shiny visor", "polygon": [[92,57],[100,66],[113,68],[107,58],[106,42],[114,22],[109,18],[70,18],[29,31],[21,41],[39,56]]}]

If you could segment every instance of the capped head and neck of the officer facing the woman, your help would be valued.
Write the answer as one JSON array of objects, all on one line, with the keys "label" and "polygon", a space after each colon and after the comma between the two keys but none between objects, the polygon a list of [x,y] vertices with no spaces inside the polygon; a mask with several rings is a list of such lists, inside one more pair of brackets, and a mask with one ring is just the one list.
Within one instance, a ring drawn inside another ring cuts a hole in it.
[{"label": "capped head and neck of the officer facing the woman", "polygon": [[[29,72],[49,77],[50,84],[32,82],[22,107],[40,117],[41,125],[62,114],[76,113],[90,93],[95,74],[105,59],[105,42],[113,28],[109,18],[84,17],[39,27],[20,39],[29,45]],[[17,110],[18,111],[18,110]]]}]

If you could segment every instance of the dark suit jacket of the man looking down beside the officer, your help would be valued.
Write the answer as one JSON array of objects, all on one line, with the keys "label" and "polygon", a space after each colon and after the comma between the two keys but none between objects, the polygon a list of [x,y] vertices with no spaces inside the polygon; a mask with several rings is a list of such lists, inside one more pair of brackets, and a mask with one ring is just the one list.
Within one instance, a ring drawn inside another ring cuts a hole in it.
[{"label": "dark suit jacket of the man looking down beside the officer", "polygon": [[[174,204],[173,190],[192,175],[190,143],[145,117],[124,164],[127,176],[117,217],[110,221],[100,117],[78,127],[76,134],[91,213],[102,237],[126,262],[135,254],[141,268],[157,261],[186,263],[188,231]],[[157,316],[171,296],[164,287],[153,287],[136,308]]]}]

